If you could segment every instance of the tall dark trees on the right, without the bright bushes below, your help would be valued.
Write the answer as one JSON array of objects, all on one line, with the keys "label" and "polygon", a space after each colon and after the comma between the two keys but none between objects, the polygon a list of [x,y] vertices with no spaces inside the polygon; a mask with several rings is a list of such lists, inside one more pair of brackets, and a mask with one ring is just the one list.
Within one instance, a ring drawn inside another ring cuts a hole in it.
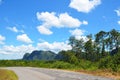
[{"label": "tall dark trees on the right, without the bright bushes below", "polygon": [[[57,58],[68,62],[76,62],[76,59],[85,59],[89,61],[99,61],[109,55],[118,53],[120,49],[120,32],[112,29],[109,32],[100,31],[94,36],[86,36],[87,41],[83,38],[76,39],[75,36],[69,38],[69,44],[72,50],[60,51]],[[71,59],[68,59],[71,58]]]}]

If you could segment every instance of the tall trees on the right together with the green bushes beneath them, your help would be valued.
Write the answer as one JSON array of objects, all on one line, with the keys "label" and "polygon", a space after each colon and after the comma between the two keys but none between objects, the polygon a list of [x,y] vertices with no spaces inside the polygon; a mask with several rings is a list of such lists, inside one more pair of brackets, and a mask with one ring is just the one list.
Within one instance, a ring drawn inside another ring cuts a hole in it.
[{"label": "tall trees on the right together with the green bushes beneath them", "polygon": [[[60,51],[56,59],[75,65],[80,65],[81,61],[86,65],[88,64],[86,61],[90,61],[91,65],[97,66],[98,69],[120,72],[120,32],[112,29],[109,32],[100,31],[94,36],[89,34],[86,37],[87,41],[84,41],[82,38],[78,40],[75,36],[71,36],[69,44],[72,49]],[[96,63],[97,65],[94,65]]]}]

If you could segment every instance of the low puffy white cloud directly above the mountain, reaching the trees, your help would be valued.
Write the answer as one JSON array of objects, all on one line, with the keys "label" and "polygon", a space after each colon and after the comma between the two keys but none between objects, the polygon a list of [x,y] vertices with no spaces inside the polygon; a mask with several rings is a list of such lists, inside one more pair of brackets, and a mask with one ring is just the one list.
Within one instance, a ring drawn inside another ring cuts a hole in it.
[{"label": "low puffy white cloud directly above the mountain, reaching the trees", "polygon": [[67,42],[42,42],[37,44],[38,49],[41,50],[51,50],[53,52],[59,52],[61,50],[70,50],[71,46]]}]

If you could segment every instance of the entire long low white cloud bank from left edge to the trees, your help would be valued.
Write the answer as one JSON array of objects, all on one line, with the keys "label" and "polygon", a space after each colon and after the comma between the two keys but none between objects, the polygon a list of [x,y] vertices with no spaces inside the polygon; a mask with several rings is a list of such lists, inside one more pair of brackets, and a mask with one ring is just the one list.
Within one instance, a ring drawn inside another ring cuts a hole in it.
[{"label": "entire long low white cloud bank from left edge to the trees", "polygon": [[0,48],[0,54],[17,54],[20,55],[21,57],[25,53],[31,53],[34,50],[50,50],[53,52],[59,52],[61,50],[70,50],[71,46],[68,45],[68,42],[53,42],[53,43],[48,43],[48,42],[41,42],[38,43],[36,47],[33,45],[19,45],[19,46],[14,46],[14,45],[4,45]]}]

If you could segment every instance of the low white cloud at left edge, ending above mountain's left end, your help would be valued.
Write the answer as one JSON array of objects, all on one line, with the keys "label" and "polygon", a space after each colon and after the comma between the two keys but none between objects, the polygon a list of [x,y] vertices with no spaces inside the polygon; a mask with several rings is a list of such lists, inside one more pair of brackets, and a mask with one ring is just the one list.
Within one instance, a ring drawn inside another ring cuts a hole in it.
[{"label": "low white cloud at left edge, ending above mountain's left end", "polygon": [[36,50],[32,45],[5,45],[0,48],[0,54],[18,54],[23,55],[25,53],[31,53],[33,50]]}]

